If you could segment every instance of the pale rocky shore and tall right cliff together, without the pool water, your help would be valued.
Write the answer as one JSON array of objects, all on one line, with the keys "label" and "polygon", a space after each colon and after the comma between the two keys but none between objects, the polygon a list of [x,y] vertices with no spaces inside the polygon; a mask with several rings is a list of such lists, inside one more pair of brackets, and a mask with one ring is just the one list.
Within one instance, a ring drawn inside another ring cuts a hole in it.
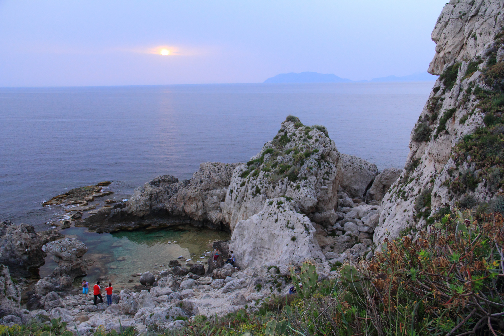
[{"label": "pale rocky shore and tall right cliff together, without the pool water", "polygon": [[[503,211],[501,6],[451,1],[439,16],[429,72],[440,76],[411,132],[405,169],[380,172],[340,153],[324,126],[288,116],[246,163],[202,163],[190,180],[161,175],[101,208],[85,198],[105,196],[99,184],[82,198],[56,197],[79,207],[59,230],[1,224],[3,323],[61,317],[84,335],[100,325],[145,332],[152,324],[182,328],[196,315],[255,312],[274,295],[287,295],[290,267],[299,270],[304,261],[319,281],[339,279],[341,264],[369,260],[385,238],[418,238],[454,208]],[[210,238],[211,247],[188,249],[180,259],[157,252],[159,270],[136,273],[135,285],[123,286],[111,306],[94,306],[72,284],[96,261],[86,243],[64,236],[84,228],[95,235],[179,228],[230,237]],[[222,252],[215,263],[212,253],[202,255],[213,248]],[[224,263],[231,250],[234,266]],[[48,255],[55,268],[34,283]],[[206,264],[187,263],[194,256]]]}]

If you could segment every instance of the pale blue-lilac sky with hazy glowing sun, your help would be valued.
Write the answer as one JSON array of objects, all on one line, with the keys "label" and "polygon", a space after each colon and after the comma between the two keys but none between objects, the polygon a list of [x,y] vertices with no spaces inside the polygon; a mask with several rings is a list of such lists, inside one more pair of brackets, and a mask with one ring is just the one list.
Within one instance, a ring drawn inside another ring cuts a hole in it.
[{"label": "pale blue-lilac sky with hazy glowing sun", "polygon": [[[422,73],[446,0],[0,0],[0,87]],[[168,52],[168,55],[162,55]]]}]

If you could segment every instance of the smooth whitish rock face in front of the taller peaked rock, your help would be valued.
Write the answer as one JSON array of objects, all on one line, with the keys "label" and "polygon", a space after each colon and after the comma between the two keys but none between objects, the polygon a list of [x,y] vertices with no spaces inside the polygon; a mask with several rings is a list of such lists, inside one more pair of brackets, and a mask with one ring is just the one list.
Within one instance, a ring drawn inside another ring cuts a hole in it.
[{"label": "smooth whitish rock face in front of the taller peaked rock", "polygon": [[269,199],[263,210],[234,227],[230,249],[241,267],[298,264],[324,258],[315,229],[295,201]]}]

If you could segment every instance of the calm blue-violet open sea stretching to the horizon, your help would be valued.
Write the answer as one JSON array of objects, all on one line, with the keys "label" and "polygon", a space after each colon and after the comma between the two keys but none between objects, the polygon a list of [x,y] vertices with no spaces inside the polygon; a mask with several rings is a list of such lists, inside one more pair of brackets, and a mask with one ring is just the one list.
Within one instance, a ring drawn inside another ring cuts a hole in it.
[{"label": "calm blue-violet open sea stretching to the horizon", "polygon": [[404,166],[433,83],[0,88],[0,219],[42,230],[41,202],[112,180],[116,198],[201,162],[245,162],[289,114],[322,124],[338,150]]}]

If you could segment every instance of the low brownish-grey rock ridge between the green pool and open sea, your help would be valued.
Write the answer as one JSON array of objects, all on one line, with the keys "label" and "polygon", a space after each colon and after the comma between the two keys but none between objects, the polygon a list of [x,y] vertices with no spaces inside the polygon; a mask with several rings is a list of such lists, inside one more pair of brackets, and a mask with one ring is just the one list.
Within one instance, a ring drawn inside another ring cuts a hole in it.
[{"label": "low brownish-grey rock ridge between the green pool and open sea", "polygon": [[220,205],[236,166],[205,162],[191,180],[181,182],[171,175],[158,176],[137,188],[123,208],[91,216],[81,225],[97,232],[180,223],[220,229]]}]

